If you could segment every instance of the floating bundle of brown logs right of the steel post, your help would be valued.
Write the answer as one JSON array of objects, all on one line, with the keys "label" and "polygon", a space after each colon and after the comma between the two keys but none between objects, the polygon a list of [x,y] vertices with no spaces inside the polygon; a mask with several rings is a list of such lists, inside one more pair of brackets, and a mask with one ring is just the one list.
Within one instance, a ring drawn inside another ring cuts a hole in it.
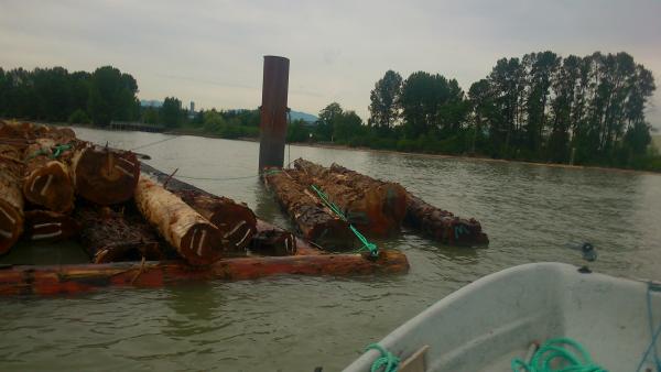
[{"label": "floating bundle of brown logs right of the steel post", "polygon": [[[349,225],[376,238],[393,236],[407,225],[445,244],[488,243],[475,219],[455,217],[397,183],[337,164],[324,167],[299,158],[293,169],[267,169],[263,178],[305,238],[325,248],[351,249]],[[333,210],[325,198],[338,210]]]}]

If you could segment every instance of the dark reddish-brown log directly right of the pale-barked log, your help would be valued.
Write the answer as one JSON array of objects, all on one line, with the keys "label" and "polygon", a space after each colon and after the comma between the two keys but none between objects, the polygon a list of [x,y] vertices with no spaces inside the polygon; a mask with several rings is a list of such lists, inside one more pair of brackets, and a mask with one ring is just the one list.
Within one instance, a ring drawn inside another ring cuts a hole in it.
[{"label": "dark reddish-brown log directly right of the pale-barked log", "polygon": [[230,198],[204,195],[195,190],[180,190],[175,194],[218,228],[228,253],[246,254],[250,240],[257,232],[257,217],[248,206]]}]

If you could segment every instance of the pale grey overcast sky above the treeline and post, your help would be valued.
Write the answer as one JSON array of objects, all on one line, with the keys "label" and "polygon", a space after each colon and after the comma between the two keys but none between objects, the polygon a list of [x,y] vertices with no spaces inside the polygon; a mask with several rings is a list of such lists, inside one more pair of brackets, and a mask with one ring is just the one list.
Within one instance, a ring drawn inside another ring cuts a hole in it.
[{"label": "pale grey overcast sky above the treeline and post", "polygon": [[[198,108],[260,105],[262,56],[291,59],[289,106],[332,101],[367,119],[387,69],[456,78],[465,90],[500,57],[630,53],[661,87],[661,1],[0,0],[0,66],[136,77],[141,99]],[[649,120],[661,128],[661,94]]]}]

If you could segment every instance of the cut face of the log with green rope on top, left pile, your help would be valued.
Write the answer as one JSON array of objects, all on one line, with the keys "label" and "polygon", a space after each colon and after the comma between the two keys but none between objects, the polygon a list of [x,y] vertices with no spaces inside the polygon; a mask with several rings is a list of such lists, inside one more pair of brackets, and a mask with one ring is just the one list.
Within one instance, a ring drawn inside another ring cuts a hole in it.
[{"label": "cut face of the log with green rope on top, left pile", "polygon": [[74,187],[59,162],[48,162],[23,180],[23,195],[30,203],[57,212],[74,208]]}]

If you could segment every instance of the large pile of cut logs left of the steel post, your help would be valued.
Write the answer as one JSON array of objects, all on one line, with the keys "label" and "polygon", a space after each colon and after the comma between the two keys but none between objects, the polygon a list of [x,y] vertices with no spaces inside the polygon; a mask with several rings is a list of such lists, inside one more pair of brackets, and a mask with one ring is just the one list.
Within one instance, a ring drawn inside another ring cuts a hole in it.
[{"label": "large pile of cut logs left of the steel post", "polygon": [[21,237],[77,237],[95,263],[176,252],[206,265],[246,254],[257,232],[246,205],[175,194],[140,169],[134,153],[80,141],[71,129],[0,120],[0,254]]}]

